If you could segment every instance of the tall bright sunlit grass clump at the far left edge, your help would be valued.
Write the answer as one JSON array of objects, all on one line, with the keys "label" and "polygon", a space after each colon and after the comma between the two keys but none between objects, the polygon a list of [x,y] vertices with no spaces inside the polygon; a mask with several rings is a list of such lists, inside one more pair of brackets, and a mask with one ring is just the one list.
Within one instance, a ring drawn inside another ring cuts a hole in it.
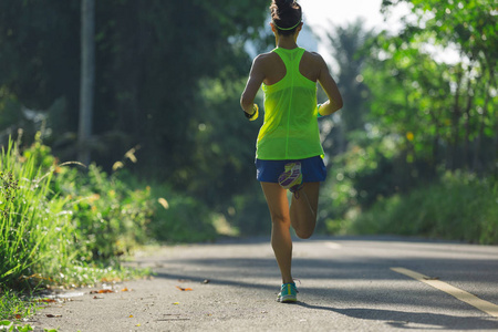
[{"label": "tall bright sunlit grass clump at the far left edge", "polygon": [[41,173],[33,158],[19,162],[17,146],[2,151],[0,191],[0,281],[4,287],[35,287],[43,272],[55,273],[72,259],[74,227],[63,199],[46,200],[53,172]]}]

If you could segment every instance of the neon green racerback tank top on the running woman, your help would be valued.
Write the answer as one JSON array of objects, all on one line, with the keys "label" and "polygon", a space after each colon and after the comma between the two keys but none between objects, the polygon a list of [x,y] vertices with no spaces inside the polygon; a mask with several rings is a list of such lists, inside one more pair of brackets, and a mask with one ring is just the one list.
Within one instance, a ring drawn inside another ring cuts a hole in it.
[{"label": "neon green racerback tank top on the running woman", "polygon": [[259,131],[256,157],[263,160],[304,159],[323,155],[317,121],[317,83],[299,72],[304,49],[277,48],[286,76],[266,85],[264,122]]}]

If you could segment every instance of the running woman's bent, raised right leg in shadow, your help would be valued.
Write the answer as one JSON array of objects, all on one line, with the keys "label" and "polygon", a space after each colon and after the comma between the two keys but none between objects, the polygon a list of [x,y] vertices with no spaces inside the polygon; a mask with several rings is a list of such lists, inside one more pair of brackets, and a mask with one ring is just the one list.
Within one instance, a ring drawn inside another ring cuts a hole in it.
[{"label": "running woman's bent, raised right leg in shadow", "polygon": [[314,232],[319,191],[320,183],[304,183],[298,193],[299,198],[292,195],[290,220],[292,228],[301,239],[308,239]]}]

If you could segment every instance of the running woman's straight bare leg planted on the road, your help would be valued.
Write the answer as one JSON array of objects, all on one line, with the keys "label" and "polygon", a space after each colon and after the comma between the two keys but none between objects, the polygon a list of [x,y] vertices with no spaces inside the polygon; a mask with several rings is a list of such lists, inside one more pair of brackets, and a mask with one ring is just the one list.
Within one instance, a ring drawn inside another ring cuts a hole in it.
[{"label": "running woman's straight bare leg planted on the road", "polygon": [[282,282],[293,282],[291,274],[292,240],[290,236],[289,200],[279,184],[261,183],[271,215],[271,247],[282,274]]}]

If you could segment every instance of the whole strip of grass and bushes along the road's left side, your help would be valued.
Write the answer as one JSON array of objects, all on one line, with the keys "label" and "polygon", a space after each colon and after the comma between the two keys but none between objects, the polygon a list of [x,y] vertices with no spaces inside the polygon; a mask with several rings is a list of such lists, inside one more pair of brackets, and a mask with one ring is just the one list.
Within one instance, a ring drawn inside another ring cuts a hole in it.
[{"label": "whole strip of grass and bushes along the road's left side", "polygon": [[147,276],[121,263],[139,246],[215,239],[201,204],[123,168],[107,175],[93,164],[60,164],[40,136],[24,149],[10,141],[1,153],[0,319],[32,314],[43,304],[34,300],[40,290]]}]

